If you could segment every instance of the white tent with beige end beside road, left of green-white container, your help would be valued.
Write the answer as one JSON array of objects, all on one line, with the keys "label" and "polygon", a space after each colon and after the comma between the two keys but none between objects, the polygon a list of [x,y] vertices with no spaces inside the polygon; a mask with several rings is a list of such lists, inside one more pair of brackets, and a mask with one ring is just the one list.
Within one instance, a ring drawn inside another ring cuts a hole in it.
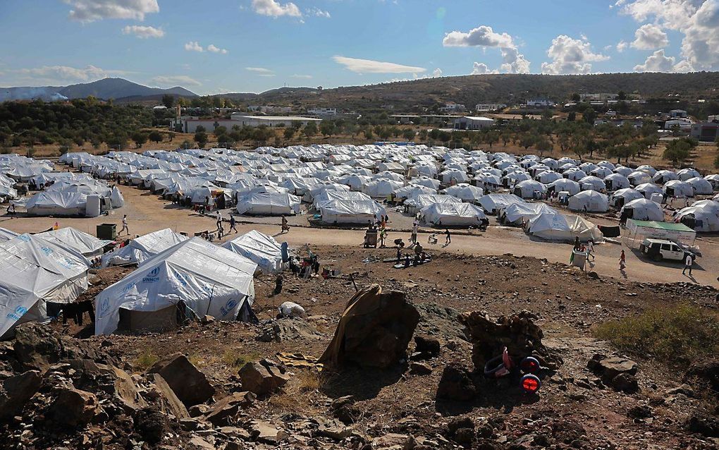
[{"label": "white tent with beige end beside road, left of green-white container", "polygon": [[547,240],[574,242],[576,237],[582,242],[604,240],[597,225],[578,215],[540,214],[529,222],[527,230],[530,235]]}]

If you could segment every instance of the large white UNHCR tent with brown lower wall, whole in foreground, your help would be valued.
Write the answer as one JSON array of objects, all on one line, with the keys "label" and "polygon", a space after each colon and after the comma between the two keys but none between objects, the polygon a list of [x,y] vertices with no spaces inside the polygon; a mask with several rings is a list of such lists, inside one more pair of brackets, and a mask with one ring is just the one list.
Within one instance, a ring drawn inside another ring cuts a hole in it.
[{"label": "large white UNHCR tent with brown lower wall, whole in foreground", "polygon": [[255,297],[257,264],[201,238],[168,248],[96,299],[95,334],[113,333],[120,309],[157,313],[183,302],[196,315],[235,320],[244,302]]}]

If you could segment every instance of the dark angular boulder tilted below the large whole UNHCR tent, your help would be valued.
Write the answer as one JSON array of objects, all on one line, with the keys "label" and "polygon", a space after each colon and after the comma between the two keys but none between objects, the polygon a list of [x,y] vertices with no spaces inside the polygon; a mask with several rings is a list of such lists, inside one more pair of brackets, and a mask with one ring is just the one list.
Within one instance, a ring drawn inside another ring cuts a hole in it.
[{"label": "dark angular boulder tilted below the large whole UNHCR tent", "polygon": [[157,361],[147,372],[160,374],[187,408],[206,402],[215,393],[215,388],[207,381],[205,374],[182,354],[173,354]]}]

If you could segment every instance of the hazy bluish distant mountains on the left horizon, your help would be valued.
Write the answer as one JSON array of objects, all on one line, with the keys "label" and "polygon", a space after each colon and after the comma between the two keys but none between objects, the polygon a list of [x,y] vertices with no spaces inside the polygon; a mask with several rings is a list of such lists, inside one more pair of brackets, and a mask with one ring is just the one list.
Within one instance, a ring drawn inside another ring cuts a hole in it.
[{"label": "hazy bluish distant mountains on the left horizon", "polygon": [[169,89],[152,88],[127,81],[124,78],[103,78],[92,83],[70,86],[40,86],[0,88],[0,102],[6,100],[42,99],[45,101],[83,99],[96,96],[99,99],[122,99],[124,97],[162,96],[173,94],[193,97],[197,94],[180,86]]}]

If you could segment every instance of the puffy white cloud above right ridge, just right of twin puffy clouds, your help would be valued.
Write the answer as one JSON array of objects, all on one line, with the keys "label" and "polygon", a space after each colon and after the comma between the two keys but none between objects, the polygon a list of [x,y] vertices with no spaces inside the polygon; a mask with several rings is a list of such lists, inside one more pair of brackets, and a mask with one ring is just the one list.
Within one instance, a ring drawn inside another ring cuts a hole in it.
[{"label": "puffy white cloud above right ridge, just right of twin puffy clouds", "polygon": [[609,57],[601,53],[594,53],[590,42],[574,39],[567,35],[559,35],[551,41],[551,47],[546,54],[551,63],[542,63],[542,73],[590,73],[592,62],[605,61]]}]

